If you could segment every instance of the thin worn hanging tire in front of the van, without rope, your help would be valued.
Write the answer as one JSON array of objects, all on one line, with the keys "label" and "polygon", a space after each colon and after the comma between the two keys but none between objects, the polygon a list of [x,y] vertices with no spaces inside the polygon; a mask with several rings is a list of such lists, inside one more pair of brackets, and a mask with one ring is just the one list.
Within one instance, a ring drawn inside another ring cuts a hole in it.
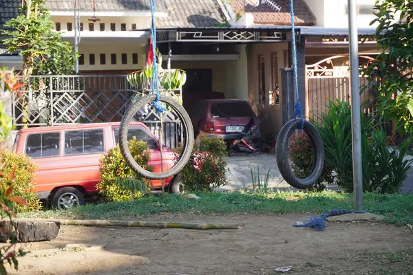
[{"label": "thin worn hanging tire in front of the van, without rope", "polygon": [[185,164],[187,164],[189,157],[192,153],[193,148],[193,126],[191,122],[191,118],[187,111],[185,111],[184,107],[182,107],[176,100],[169,96],[159,96],[160,102],[165,102],[169,104],[169,106],[176,112],[178,118],[180,118],[182,122],[182,127],[184,128],[184,136],[187,137],[187,141],[184,142],[182,153],[178,159],[178,162],[170,168],[169,170],[161,173],[153,173],[149,172],[142,168],[138,163],[136,163],[134,156],[131,155],[131,151],[129,150],[128,140],[127,140],[127,131],[129,128],[129,123],[134,118],[135,113],[145,107],[146,104],[153,102],[156,99],[156,95],[148,95],[143,96],[140,100],[137,100],[131,107],[127,109],[125,115],[123,115],[122,120],[120,121],[119,127],[119,147],[120,153],[123,155],[125,162],[127,165],[134,170],[136,173],[142,175],[146,179],[167,179],[168,177],[173,177],[184,168]]}]

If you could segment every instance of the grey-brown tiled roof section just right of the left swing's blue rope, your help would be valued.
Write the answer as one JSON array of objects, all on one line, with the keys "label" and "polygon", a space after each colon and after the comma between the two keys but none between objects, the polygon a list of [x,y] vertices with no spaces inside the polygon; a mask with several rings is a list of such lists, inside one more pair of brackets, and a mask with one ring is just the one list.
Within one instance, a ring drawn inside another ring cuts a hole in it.
[{"label": "grey-brown tiled roof section just right of the left swing's blue rope", "polygon": [[171,12],[168,17],[158,17],[156,27],[211,27],[224,19],[217,1],[221,0],[167,0]]}]

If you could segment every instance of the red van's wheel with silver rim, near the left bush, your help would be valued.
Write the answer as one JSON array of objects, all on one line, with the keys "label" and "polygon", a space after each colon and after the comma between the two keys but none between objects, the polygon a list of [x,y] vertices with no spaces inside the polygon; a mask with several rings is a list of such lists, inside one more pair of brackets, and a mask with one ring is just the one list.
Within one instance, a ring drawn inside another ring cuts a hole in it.
[{"label": "red van's wheel with silver rim, near the left bush", "polygon": [[74,187],[63,187],[54,193],[52,206],[58,209],[72,209],[85,205],[85,197]]}]

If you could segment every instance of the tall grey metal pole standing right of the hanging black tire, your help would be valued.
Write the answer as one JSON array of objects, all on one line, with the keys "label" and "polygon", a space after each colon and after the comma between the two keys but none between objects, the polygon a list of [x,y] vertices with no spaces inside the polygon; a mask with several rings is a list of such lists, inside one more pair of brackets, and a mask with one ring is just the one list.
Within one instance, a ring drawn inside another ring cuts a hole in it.
[{"label": "tall grey metal pole standing right of the hanging black tire", "polygon": [[363,210],[363,167],[361,163],[361,118],[359,84],[359,39],[357,34],[356,0],[348,0],[348,29],[350,45],[350,87],[352,122],[352,161],[354,209]]}]

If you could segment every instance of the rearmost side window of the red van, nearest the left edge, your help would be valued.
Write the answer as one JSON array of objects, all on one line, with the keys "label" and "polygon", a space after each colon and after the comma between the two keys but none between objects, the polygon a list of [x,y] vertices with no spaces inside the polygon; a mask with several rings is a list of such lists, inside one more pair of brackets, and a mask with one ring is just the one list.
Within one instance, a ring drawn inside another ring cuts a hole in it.
[{"label": "rearmost side window of the red van, nearest the left edge", "polygon": [[29,157],[58,157],[60,133],[36,133],[28,136],[25,154]]}]

